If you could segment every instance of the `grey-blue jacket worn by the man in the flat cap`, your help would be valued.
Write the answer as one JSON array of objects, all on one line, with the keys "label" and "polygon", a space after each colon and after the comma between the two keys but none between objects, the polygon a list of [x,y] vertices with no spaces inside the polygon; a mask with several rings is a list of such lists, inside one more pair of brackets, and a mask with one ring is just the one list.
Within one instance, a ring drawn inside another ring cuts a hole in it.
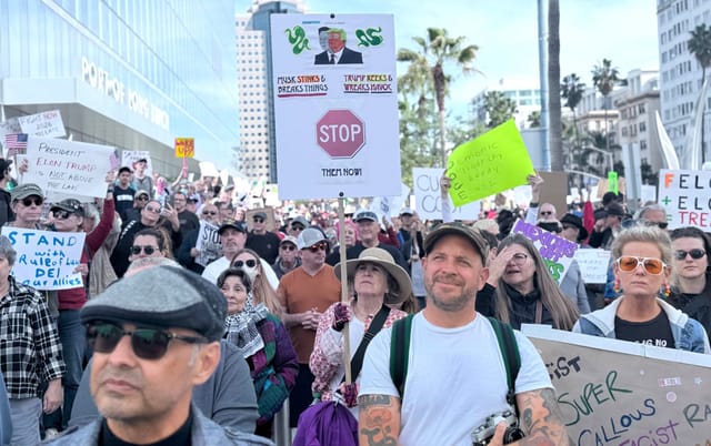
[{"label": "grey-blue jacket worn by the man in the flat cap", "polygon": [[[220,426],[202,415],[202,412],[194,405],[190,409],[192,410],[192,432],[190,435],[192,446],[273,446],[273,443],[267,438]],[[83,427],[70,427],[60,437],[43,444],[52,446],[98,445],[102,420],[99,418]]]}]

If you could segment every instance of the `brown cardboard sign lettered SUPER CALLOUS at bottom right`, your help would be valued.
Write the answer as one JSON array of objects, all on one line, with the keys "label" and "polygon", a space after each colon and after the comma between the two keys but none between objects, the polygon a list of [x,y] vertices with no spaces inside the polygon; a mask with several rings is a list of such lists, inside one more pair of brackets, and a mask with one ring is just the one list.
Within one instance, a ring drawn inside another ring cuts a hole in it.
[{"label": "brown cardboard sign lettered SUPER CALLOUS at bottom right", "polygon": [[711,444],[711,356],[523,325],[578,446]]}]

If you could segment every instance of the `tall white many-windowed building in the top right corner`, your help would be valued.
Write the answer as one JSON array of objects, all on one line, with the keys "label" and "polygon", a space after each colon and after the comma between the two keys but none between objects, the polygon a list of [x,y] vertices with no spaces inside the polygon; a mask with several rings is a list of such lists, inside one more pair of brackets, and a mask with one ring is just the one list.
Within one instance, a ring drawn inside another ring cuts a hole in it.
[{"label": "tall white many-windowed building in the top right corner", "polygon": [[[702,23],[711,23],[711,0],[658,0],[659,67],[661,118],[680,160],[688,150],[691,119],[701,90],[701,65],[689,52],[691,31]],[[711,129],[711,99],[707,98],[705,129]],[[710,131],[705,132],[705,148],[710,152]]]}]

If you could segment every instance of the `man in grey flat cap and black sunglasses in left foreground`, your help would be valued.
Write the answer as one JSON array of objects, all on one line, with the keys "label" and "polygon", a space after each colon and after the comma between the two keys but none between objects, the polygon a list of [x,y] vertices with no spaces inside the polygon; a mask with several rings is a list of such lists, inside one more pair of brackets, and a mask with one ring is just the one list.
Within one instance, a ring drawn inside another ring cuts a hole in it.
[{"label": "man in grey flat cap and black sunglasses in left foreground", "polygon": [[271,445],[222,427],[191,404],[220,361],[227,302],[217,286],[158,266],[109,286],[81,311],[93,349],[91,395],[101,419],[53,445]]}]

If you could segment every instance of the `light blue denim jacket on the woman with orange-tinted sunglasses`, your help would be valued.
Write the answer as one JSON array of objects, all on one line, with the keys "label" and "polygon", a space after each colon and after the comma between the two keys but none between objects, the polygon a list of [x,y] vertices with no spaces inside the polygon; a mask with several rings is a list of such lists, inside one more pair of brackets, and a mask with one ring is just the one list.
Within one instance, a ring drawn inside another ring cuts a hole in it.
[{"label": "light blue denim jacket on the woman with orange-tinted sunglasses", "polygon": [[[623,300],[624,297],[617,298],[602,310],[581,315],[575,326],[573,326],[573,332],[615,338],[614,315],[618,312],[620,302]],[[707,331],[698,321],[692,320],[685,313],[674,308],[661,298],[657,298],[657,303],[669,317],[677,348],[695,353],[711,353]]]}]

